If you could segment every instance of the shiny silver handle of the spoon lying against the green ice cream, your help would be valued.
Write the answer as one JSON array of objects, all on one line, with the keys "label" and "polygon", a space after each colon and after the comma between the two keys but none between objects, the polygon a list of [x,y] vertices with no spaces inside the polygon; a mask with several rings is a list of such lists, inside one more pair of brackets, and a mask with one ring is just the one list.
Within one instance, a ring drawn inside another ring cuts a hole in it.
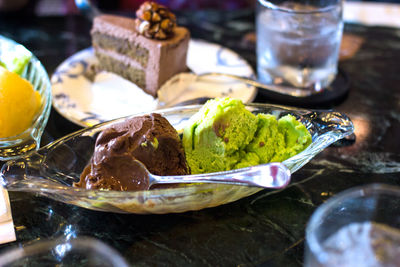
[{"label": "shiny silver handle of the spoon lying against the green ice cream", "polygon": [[268,163],[226,172],[185,176],[155,176],[155,183],[224,183],[264,188],[285,187],[290,171],[283,163]]}]

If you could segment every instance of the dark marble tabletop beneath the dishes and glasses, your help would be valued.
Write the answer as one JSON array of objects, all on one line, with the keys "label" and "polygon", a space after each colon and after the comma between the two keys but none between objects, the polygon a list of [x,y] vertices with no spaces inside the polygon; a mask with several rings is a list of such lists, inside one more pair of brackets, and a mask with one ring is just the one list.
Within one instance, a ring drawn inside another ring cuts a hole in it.
[{"label": "dark marble tabletop beneath the dishes and glasses", "polygon": [[[250,10],[181,14],[193,37],[234,49],[255,66]],[[90,22],[79,16],[0,17],[0,34],[24,44],[51,75],[65,58],[90,46]],[[293,175],[282,191],[261,191],[234,203],[167,215],[102,213],[29,193],[10,192],[17,241],[90,236],[115,248],[134,266],[302,266],[304,230],[313,211],[332,195],[368,184],[400,185],[400,29],[346,25],[364,39],[340,62],[348,96],[327,104],[347,114],[355,142],[332,146]],[[258,95],[256,102],[270,102]],[[43,142],[79,129],[52,111]],[[79,265],[77,263],[77,265]]]}]

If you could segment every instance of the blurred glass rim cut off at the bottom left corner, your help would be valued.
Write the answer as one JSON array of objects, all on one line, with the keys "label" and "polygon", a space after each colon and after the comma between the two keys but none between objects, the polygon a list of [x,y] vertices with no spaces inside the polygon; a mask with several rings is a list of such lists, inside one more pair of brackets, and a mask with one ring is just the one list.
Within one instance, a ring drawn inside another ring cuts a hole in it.
[{"label": "blurred glass rim cut off at the bottom left corner", "polygon": [[110,246],[90,237],[40,240],[4,250],[0,265],[17,266],[104,266],[129,264]]}]

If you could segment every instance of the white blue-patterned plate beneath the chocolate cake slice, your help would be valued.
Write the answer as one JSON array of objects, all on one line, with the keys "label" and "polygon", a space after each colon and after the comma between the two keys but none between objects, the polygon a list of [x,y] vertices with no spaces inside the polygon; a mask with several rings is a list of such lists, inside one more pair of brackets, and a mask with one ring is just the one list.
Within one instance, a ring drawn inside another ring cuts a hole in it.
[{"label": "white blue-patterned plate beneath the chocolate cake slice", "polygon": [[[257,93],[255,87],[229,78],[195,82],[182,75],[179,84],[175,84],[179,86],[179,93],[176,93],[176,86],[163,87],[160,99],[153,99],[118,75],[96,74],[96,64],[93,48],[87,48],[61,63],[51,77],[54,108],[68,120],[84,127],[138,112],[150,112],[158,109],[159,103],[168,105],[198,97],[226,96],[249,103]],[[238,54],[200,40],[190,41],[187,65],[196,74],[212,71],[254,76],[250,65]]]}]

